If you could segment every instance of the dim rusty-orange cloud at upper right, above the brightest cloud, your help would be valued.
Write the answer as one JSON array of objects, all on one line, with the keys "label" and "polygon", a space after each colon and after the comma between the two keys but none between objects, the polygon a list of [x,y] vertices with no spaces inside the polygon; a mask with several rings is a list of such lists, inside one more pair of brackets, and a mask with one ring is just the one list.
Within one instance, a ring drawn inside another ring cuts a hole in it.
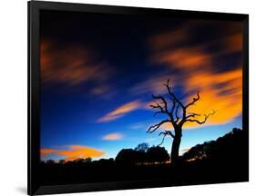
[{"label": "dim rusty-orange cloud at upper right, above the brightest cloud", "polygon": [[[194,43],[195,34],[207,25],[222,25],[217,34],[211,34],[203,42]],[[209,69],[216,58],[242,50],[241,22],[190,21],[177,29],[151,36],[148,40],[154,54],[152,60],[158,64],[193,70],[204,66]],[[192,44],[191,44],[192,43]],[[189,45],[189,46],[188,46]],[[215,48],[215,50],[212,50]],[[186,70],[187,71],[187,70]]]}]

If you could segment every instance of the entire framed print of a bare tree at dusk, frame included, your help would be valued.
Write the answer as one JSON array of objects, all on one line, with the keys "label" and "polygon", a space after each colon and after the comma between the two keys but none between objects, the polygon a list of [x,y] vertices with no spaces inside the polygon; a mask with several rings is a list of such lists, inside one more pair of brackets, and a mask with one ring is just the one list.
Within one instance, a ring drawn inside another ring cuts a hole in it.
[{"label": "entire framed print of a bare tree at dusk, frame included", "polygon": [[249,181],[248,21],[28,2],[28,194]]}]

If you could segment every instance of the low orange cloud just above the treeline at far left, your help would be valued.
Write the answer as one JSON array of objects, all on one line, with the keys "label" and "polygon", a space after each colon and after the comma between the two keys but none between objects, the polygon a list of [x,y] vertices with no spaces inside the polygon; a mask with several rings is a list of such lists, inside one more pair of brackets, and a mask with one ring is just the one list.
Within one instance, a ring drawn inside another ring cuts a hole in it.
[{"label": "low orange cloud just above the treeline at far left", "polygon": [[41,149],[41,157],[45,158],[47,154],[55,153],[56,156],[65,156],[65,161],[74,161],[76,159],[85,159],[87,157],[100,157],[105,154],[95,148],[83,145],[69,145],[68,150]]}]

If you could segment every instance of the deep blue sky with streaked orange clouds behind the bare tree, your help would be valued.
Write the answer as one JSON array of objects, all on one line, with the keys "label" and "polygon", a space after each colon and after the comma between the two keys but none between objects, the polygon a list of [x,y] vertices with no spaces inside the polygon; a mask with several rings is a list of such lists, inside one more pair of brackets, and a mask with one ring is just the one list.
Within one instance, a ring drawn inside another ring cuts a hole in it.
[{"label": "deep blue sky with streaked orange clouds behind the bare tree", "polygon": [[148,105],[152,93],[168,99],[168,79],[183,103],[200,91],[190,112],[217,111],[185,124],[180,154],[241,128],[241,22],[58,11],[41,11],[40,21],[42,160],[158,145],[159,132],[147,130],[166,116]]}]

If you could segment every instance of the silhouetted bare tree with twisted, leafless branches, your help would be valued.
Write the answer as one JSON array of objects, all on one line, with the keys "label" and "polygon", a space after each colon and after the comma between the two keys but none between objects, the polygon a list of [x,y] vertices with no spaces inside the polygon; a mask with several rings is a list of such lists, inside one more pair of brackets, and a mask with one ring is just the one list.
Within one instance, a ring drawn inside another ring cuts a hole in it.
[{"label": "silhouetted bare tree with twisted, leafless branches", "polygon": [[152,109],[158,110],[154,116],[158,113],[164,113],[167,115],[167,119],[163,120],[155,125],[152,125],[148,128],[147,132],[155,132],[159,129],[161,125],[163,125],[166,122],[170,122],[172,124],[172,127],[174,129],[174,132],[171,131],[164,131],[159,132],[159,135],[163,135],[162,142],[159,144],[161,145],[164,142],[164,139],[167,135],[171,136],[173,138],[172,146],[171,146],[171,152],[170,152],[170,160],[173,163],[176,163],[179,161],[179,145],[181,142],[182,137],[182,126],[185,122],[197,122],[199,124],[205,123],[210,115],[213,115],[215,111],[209,114],[204,114],[204,120],[199,121],[196,119],[196,117],[200,116],[199,113],[187,113],[189,106],[197,103],[200,100],[200,93],[197,93],[197,96],[193,98],[193,100],[190,103],[183,104],[173,93],[169,86],[169,80],[166,84],[164,84],[167,88],[168,94],[169,94],[169,100],[167,101],[163,96],[161,95],[154,95],[152,94],[152,97],[156,99],[156,104],[150,105]]}]

